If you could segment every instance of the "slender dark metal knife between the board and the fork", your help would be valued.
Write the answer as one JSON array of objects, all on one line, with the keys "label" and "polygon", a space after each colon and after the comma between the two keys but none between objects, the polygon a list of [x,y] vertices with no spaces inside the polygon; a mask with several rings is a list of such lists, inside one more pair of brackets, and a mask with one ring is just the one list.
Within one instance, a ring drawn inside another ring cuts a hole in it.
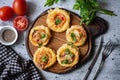
[{"label": "slender dark metal knife between the board and the fork", "polygon": [[95,56],[93,57],[93,60],[92,60],[92,62],[91,62],[91,64],[90,64],[90,66],[89,66],[89,68],[88,68],[88,71],[87,71],[87,73],[86,73],[86,75],[85,75],[85,77],[84,77],[83,80],[87,80],[88,76],[90,75],[91,70],[93,69],[93,67],[94,67],[94,65],[95,65],[95,63],[96,63],[96,61],[97,61],[97,58],[98,58],[98,56],[99,56],[99,54],[100,54],[100,51],[101,51],[101,49],[102,49],[102,43],[103,43],[103,36],[101,36],[101,38],[100,38],[100,42],[99,42],[99,47],[98,47],[97,53],[96,53]]}]

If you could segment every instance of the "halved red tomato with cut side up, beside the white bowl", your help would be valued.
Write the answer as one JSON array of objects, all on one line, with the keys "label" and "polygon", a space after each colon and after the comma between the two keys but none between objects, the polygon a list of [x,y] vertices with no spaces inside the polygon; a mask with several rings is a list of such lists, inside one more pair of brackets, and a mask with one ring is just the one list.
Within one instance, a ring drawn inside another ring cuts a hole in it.
[{"label": "halved red tomato with cut side up, beside the white bowl", "polygon": [[24,31],[28,27],[28,19],[24,16],[17,16],[13,21],[13,25],[18,31]]}]

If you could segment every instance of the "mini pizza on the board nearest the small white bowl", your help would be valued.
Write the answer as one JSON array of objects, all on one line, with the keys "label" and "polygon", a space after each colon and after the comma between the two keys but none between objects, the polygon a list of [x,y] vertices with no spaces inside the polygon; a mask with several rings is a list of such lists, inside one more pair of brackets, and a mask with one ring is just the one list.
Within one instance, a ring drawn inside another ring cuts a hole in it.
[{"label": "mini pizza on the board nearest the small white bowl", "polygon": [[42,45],[47,45],[51,38],[50,30],[46,26],[37,26],[31,29],[29,40],[34,46],[41,47]]}]

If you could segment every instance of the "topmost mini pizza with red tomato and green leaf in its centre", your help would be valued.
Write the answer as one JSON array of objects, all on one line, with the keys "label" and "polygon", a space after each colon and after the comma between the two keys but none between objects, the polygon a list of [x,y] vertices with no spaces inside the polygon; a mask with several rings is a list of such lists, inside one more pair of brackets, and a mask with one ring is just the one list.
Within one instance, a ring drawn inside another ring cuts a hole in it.
[{"label": "topmost mini pizza with red tomato and green leaf in its centre", "polygon": [[65,31],[70,24],[70,14],[62,9],[55,8],[50,10],[47,16],[48,27],[55,32]]}]

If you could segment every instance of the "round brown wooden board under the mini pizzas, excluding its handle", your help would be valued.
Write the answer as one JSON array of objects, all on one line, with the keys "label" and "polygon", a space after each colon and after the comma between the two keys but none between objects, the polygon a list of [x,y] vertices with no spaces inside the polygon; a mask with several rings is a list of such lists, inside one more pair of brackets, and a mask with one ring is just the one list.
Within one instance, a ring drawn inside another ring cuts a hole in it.
[{"label": "round brown wooden board under the mini pizzas, excluding its handle", "polygon": [[[47,13],[48,10],[44,11],[42,14],[40,14],[33,22],[33,24],[30,26],[28,32],[27,32],[27,38],[26,38],[26,47],[27,47],[27,51],[28,54],[30,55],[30,57],[33,59],[33,55],[35,53],[35,51],[37,50],[38,47],[35,47],[31,44],[31,42],[29,41],[29,33],[30,30],[33,27],[36,27],[38,25],[45,25],[46,24],[46,18],[47,18]],[[68,11],[68,10],[67,10]],[[70,18],[71,18],[71,22],[70,22],[70,26],[71,25],[79,25],[80,24],[80,16],[78,16],[77,14],[70,12]],[[85,27],[85,26],[84,26]],[[85,45],[79,47],[79,50],[81,52],[80,55],[80,61],[76,66],[80,66],[82,65],[81,62],[83,62],[90,54],[91,51],[91,47],[92,47],[92,40],[91,40],[91,34],[89,33],[89,30],[85,27],[86,32],[87,32],[87,41],[85,43]],[[47,47],[50,47],[51,49],[57,51],[59,47],[62,46],[62,44],[67,43],[66,40],[66,31],[64,32],[54,32],[51,30],[51,34],[52,34],[52,38],[50,39],[49,43],[46,45]],[[75,66],[74,66],[75,67]],[[56,64],[54,64],[52,67],[48,68],[47,71],[50,72],[54,72],[54,73],[65,73],[67,71],[70,71],[71,69],[73,69],[74,67],[63,67],[60,66],[58,64],[58,62],[56,61]]]}]

